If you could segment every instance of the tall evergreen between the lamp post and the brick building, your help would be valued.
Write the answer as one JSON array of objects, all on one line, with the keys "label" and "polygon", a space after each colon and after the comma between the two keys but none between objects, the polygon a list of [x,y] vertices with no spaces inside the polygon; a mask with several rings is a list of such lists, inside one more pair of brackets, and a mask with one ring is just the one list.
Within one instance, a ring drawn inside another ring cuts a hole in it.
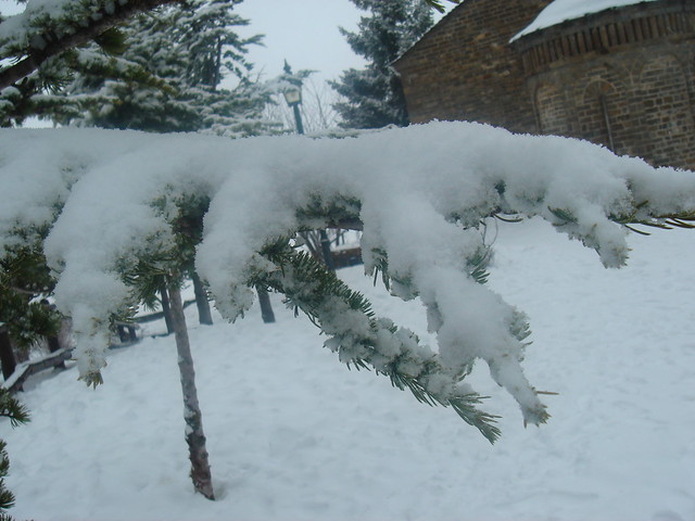
[{"label": "tall evergreen between the lamp post and the brick building", "polygon": [[358,31],[341,28],[352,50],[367,60],[363,69],[343,72],[331,87],[344,98],[333,105],[346,128],[381,128],[408,124],[401,80],[391,63],[413,46],[433,24],[424,0],[352,0],[369,16]]}]

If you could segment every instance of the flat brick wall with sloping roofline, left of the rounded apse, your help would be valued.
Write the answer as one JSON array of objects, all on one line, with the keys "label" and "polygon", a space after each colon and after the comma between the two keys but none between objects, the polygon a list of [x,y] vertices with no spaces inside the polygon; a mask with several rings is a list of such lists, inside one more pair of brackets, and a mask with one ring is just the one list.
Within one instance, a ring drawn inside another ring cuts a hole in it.
[{"label": "flat brick wall with sloping roofline, left of the rounded apse", "polygon": [[464,119],[536,129],[509,39],[551,0],[465,0],[394,64],[412,123]]}]

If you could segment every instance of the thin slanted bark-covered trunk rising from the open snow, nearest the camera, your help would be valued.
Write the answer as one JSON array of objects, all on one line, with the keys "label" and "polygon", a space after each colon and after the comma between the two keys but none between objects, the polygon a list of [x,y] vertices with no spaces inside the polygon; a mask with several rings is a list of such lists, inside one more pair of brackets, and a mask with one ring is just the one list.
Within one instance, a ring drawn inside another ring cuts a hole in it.
[{"label": "thin slanted bark-covered trunk rising from the open snow, nearest the camera", "polygon": [[174,284],[169,285],[168,292],[172,322],[176,336],[176,351],[178,353],[178,368],[181,374],[181,391],[184,392],[184,419],[186,420],[186,443],[188,444],[189,458],[191,460],[191,480],[197,492],[200,492],[207,499],[215,499],[210,462],[207,461],[207,449],[205,448],[203,417],[198,403],[198,390],[195,389],[193,357],[191,356],[186,318],[184,316],[184,303],[178,288]]}]

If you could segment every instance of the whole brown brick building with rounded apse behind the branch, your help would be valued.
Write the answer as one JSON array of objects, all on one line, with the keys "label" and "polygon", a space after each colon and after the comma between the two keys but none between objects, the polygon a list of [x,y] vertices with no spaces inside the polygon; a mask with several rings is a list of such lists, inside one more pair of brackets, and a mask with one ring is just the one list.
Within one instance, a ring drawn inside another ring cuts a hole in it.
[{"label": "whole brown brick building with rounded apse behind the branch", "polygon": [[394,63],[410,120],[577,137],[695,169],[695,0],[635,0],[517,37],[552,3],[452,10]]}]

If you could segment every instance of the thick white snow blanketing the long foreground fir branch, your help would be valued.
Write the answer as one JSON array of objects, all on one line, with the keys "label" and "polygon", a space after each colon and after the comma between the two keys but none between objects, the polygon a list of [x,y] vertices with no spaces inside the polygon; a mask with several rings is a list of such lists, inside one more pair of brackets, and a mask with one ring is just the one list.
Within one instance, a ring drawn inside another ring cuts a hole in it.
[{"label": "thick white snow blanketing the long foreground fir branch", "polygon": [[[627,225],[678,225],[695,216],[693,173],[653,168],[582,141],[470,123],[346,139],[233,141],[3,130],[0,179],[0,247],[42,241],[40,230],[52,227],[43,247],[58,274],[55,302],[73,318],[78,366],[88,380],[105,365],[111,314],[132,298],[124,266],[165,257],[176,243],[181,205],[205,200],[195,264],[227,318],[251,306],[258,281],[280,291],[291,282],[298,294],[296,280],[278,279],[278,272],[288,277],[289,265],[263,254],[268,244],[306,228],[362,223],[367,275],[381,271],[394,295],[422,301],[438,350],[422,351],[407,330],[359,306],[345,313],[349,295],[340,292],[342,304],[321,301],[314,316],[336,339],[329,347],[343,361],[390,374],[416,396],[464,409],[472,405],[463,396],[476,395],[462,380],[483,359],[525,421],[536,424],[547,414],[521,369],[529,326],[482,283],[489,255],[481,221],[541,216],[594,249],[605,266],[619,267],[629,252]],[[467,421],[477,421],[472,410]]]}]

